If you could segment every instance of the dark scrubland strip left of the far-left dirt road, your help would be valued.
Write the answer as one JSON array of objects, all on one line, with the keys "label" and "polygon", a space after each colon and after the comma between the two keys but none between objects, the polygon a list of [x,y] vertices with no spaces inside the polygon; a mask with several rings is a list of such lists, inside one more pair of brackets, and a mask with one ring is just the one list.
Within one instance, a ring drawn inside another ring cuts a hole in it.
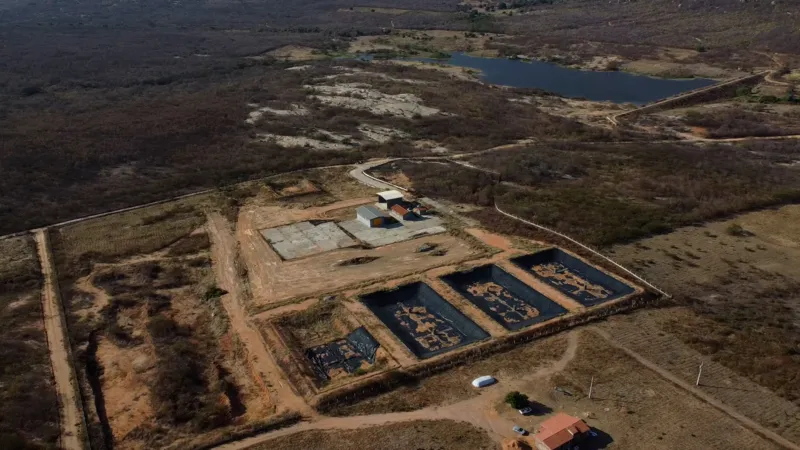
[{"label": "dark scrubland strip left of the far-left dirt road", "polygon": [[0,241],[1,448],[58,444],[58,398],[47,352],[41,285],[33,239]]}]

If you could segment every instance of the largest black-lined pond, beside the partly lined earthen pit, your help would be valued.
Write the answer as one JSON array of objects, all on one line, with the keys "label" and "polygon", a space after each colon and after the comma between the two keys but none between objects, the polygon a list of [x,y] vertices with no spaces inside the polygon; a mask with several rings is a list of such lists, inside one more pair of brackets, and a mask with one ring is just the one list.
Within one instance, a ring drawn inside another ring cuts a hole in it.
[{"label": "largest black-lined pond, beside the partly lined earthen pit", "polygon": [[489,337],[422,282],[367,294],[361,301],[420,359]]}]

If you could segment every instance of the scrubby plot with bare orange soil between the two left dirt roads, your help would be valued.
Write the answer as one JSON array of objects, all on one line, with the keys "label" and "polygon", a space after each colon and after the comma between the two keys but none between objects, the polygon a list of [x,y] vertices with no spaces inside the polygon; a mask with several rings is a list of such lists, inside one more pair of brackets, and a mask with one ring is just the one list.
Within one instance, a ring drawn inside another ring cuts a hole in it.
[{"label": "scrubby plot with bare orange soil between the two left dirt roads", "polygon": [[92,448],[188,448],[268,420],[199,197],[52,232]]}]

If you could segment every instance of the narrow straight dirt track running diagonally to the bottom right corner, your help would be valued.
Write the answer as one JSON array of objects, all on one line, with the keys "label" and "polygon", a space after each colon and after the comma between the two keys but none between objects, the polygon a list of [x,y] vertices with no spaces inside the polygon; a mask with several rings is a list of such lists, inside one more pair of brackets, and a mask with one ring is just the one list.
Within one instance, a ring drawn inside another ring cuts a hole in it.
[{"label": "narrow straight dirt track running diagonally to the bottom right corner", "polygon": [[593,331],[595,333],[597,333],[598,335],[602,336],[606,341],[608,341],[609,344],[611,344],[615,348],[618,348],[619,350],[622,350],[623,352],[628,354],[630,357],[635,359],[638,363],[642,364],[643,366],[645,366],[648,369],[652,370],[653,372],[657,373],[660,377],[666,379],[667,381],[671,382],[672,384],[680,387],[681,389],[691,393],[695,397],[703,400],[704,402],[708,403],[709,405],[711,405],[711,406],[717,408],[718,410],[722,411],[723,413],[729,415],[731,418],[733,418],[734,420],[738,421],[744,427],[750,429],[751,431],[755,432],[759,436],[761,436],[763,438],[766,438],[766,439],[769,439],[770,441],[774,442],[775,444],[778,444],[779,446],[781,446],[783,448],[787,448],[787,449],[791,449],[791,450],[800,450],[800,446],[798,446],[798,445],[794,444],[793,442],[785,439],[784,437],[778,435],[777,433],[773,432],[772,430],[769,430],[769,429],[757,424],[756,422],[748,419],[747,417],[745,417],[744,415],[739,413],[734,408],[731,408],[730,406],[720,402],[716,398],[706,394],[705,392],[701,391],[700,389],[697,389],[696,387],[692,386],[691,384],[689,384],[689,383],[683,381],[682,379],[676,377],[675,375],[673,375],[669,371],[661,368],[661,366],[659,366],[658,364],[650,361],[649,359],[645,358],[644,356],[642,356],[642,355],[634,352],[633,350],[631,350],[631,349],[619,344],[614,339],[612,339],[611,336],[609,336],[609,334],[606,333],[605,331],[597,329],[597,328],[594,328]]}]

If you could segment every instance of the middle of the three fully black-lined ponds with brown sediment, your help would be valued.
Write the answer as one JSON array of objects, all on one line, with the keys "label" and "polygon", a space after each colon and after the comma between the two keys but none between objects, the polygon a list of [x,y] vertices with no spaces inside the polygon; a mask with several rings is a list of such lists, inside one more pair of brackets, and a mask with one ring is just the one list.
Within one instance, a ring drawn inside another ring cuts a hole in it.
[{"label": "middle of the three fully black-lined ponds with brown sediment", "polygon": [[516,331],[567,312],[494,264],[440,278],[507,330]]}]

